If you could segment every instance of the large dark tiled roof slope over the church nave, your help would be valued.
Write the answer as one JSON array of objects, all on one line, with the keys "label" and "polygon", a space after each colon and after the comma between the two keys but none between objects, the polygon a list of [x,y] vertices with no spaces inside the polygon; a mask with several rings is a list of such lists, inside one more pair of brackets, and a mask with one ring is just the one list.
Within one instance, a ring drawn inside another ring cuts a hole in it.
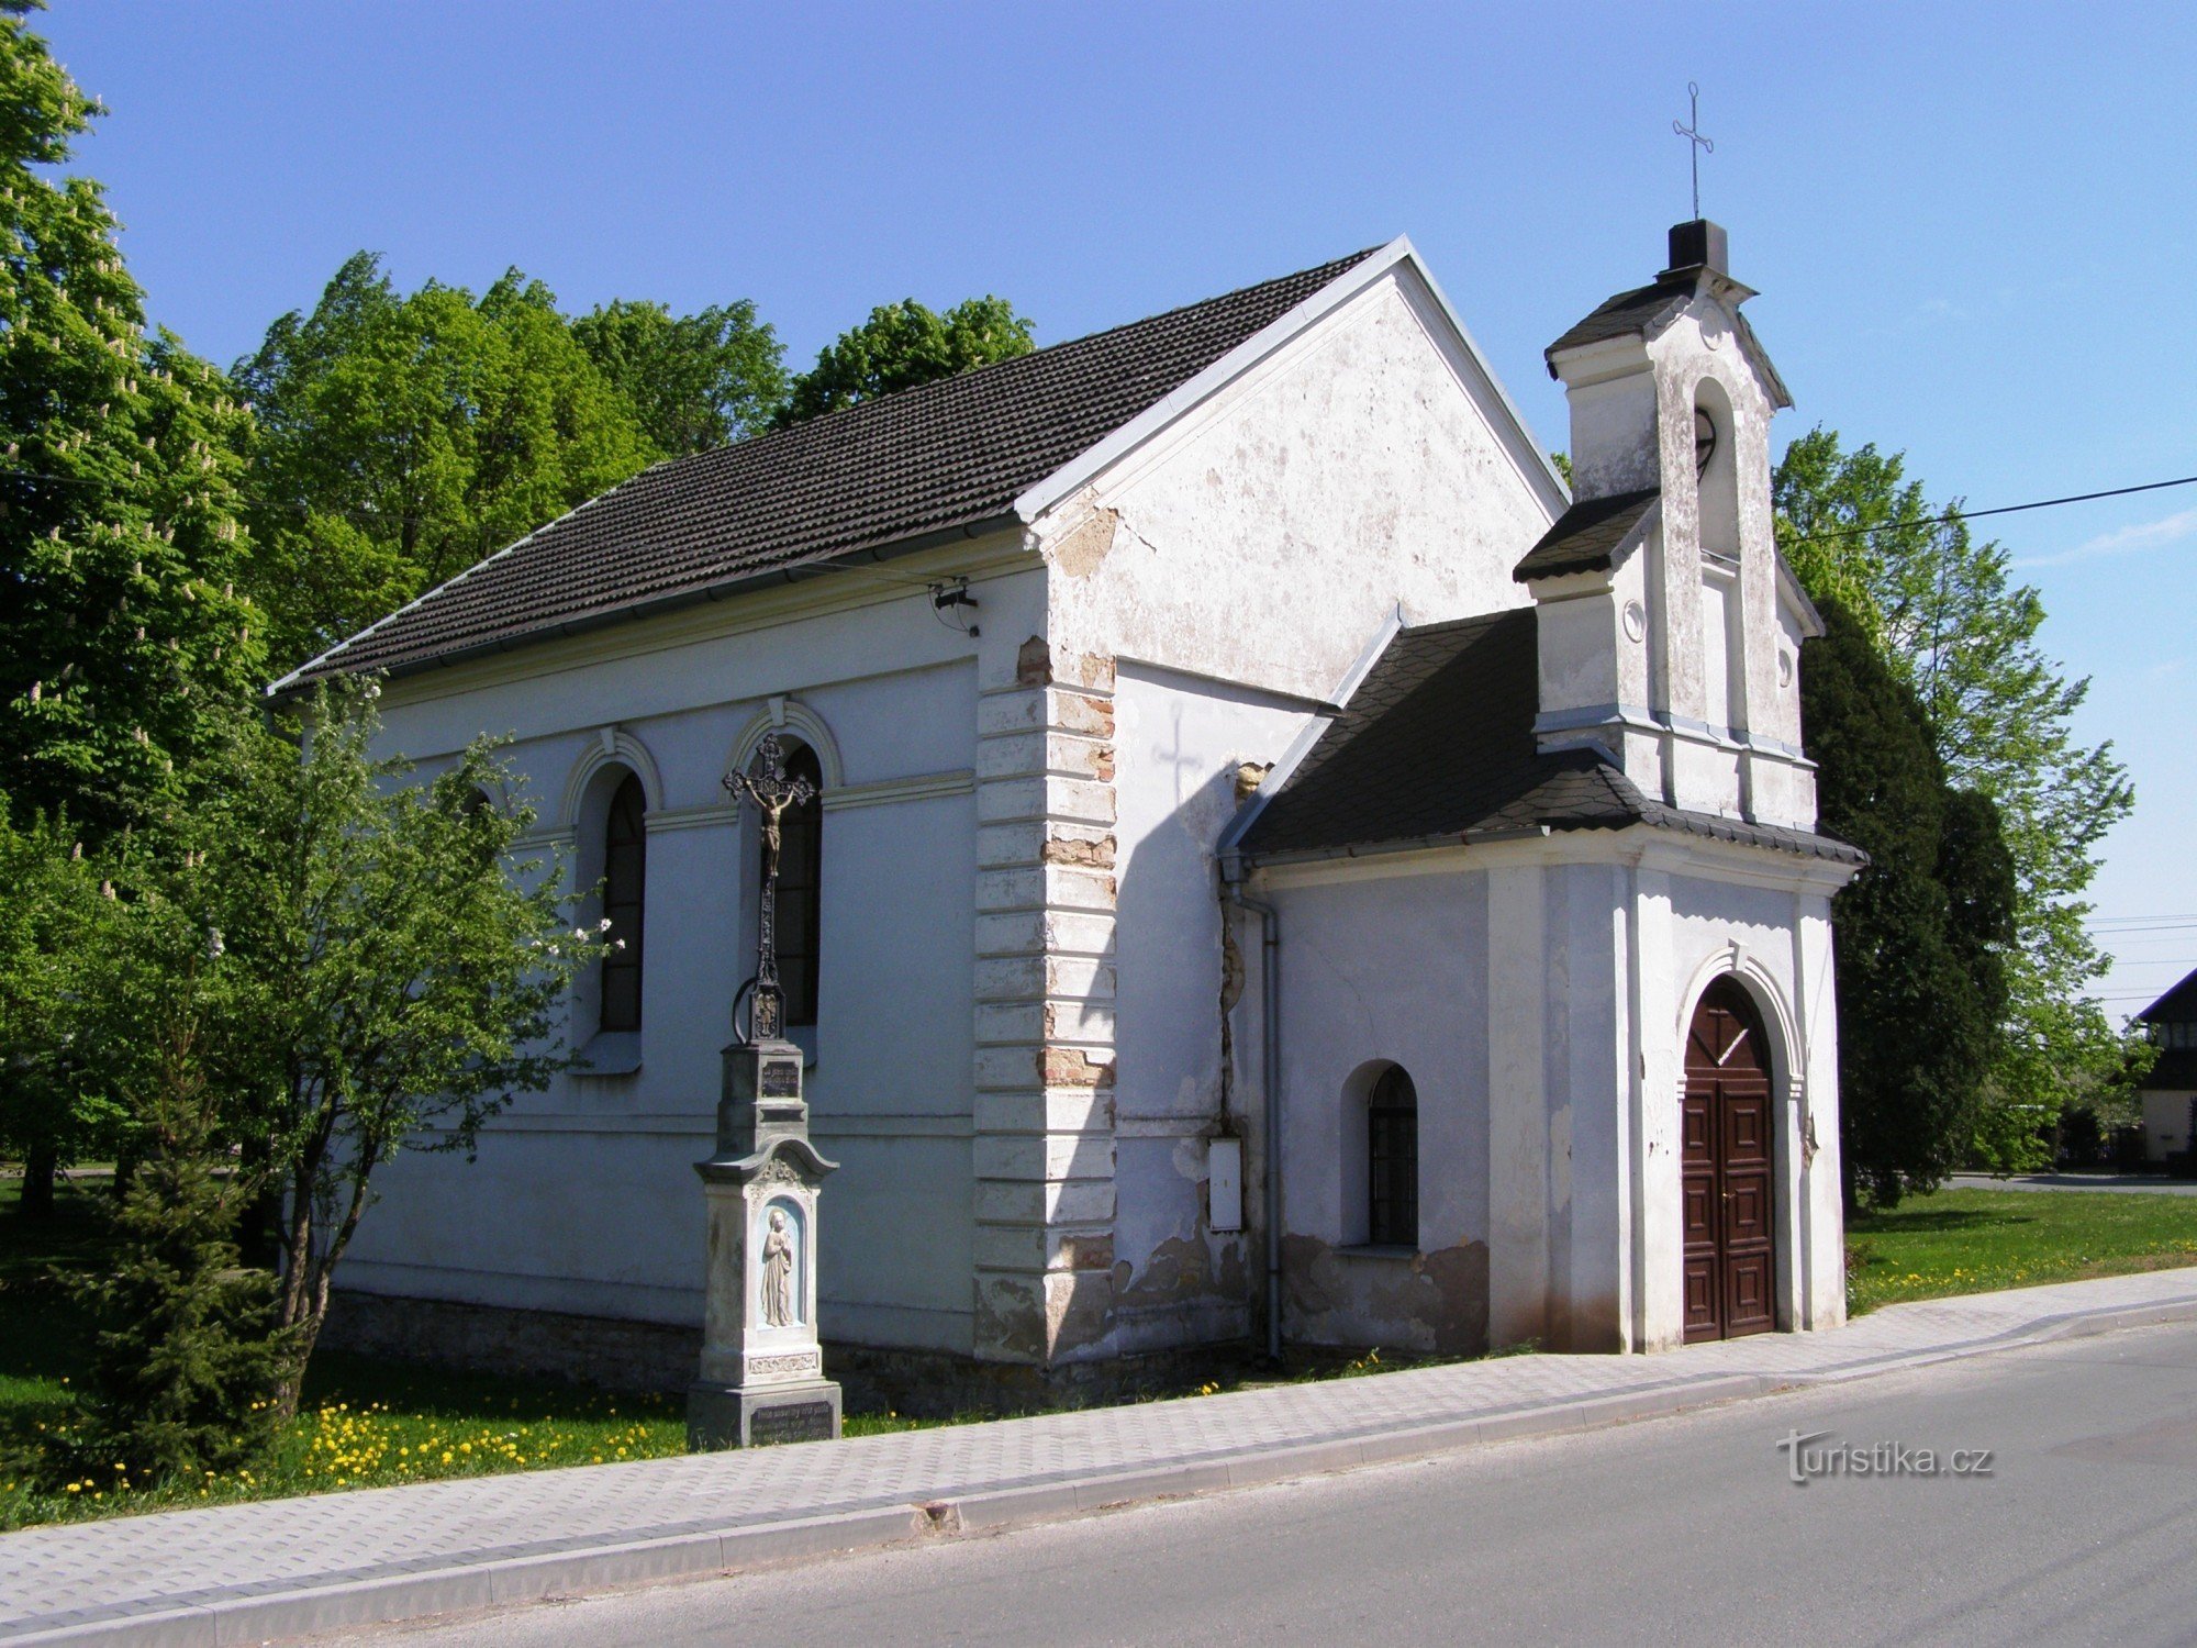
[{"label": "large dark tiled roof slope over the church nave", "polygon": [[725,582],[1006,514],[1013,499],[1371,248],[1149,321],[642,470],[294,681],[406,670]]}]

